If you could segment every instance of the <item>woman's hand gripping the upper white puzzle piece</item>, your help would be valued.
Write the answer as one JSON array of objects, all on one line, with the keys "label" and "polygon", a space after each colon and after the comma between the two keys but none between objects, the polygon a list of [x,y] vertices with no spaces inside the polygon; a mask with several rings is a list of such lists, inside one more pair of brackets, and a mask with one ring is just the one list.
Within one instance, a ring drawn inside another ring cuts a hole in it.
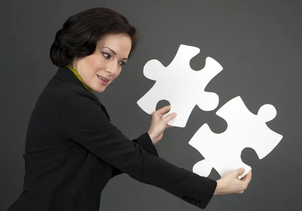
[{"label": "woman's hand gripping the upper white puzzle piece", "polygon": [[164,131],[167,128],[173,128],[173,126],[168,125],[168,122],[176,117],[176,113],[171,113],[167,117],[162,119],[163,116],[166,115],[166,112],[170,111],[170,108],[171,105],[167,105],[166,107],[155,111],[151,115],[151,123],[148,134],[153,144],[158,143],[163,138]]}]

